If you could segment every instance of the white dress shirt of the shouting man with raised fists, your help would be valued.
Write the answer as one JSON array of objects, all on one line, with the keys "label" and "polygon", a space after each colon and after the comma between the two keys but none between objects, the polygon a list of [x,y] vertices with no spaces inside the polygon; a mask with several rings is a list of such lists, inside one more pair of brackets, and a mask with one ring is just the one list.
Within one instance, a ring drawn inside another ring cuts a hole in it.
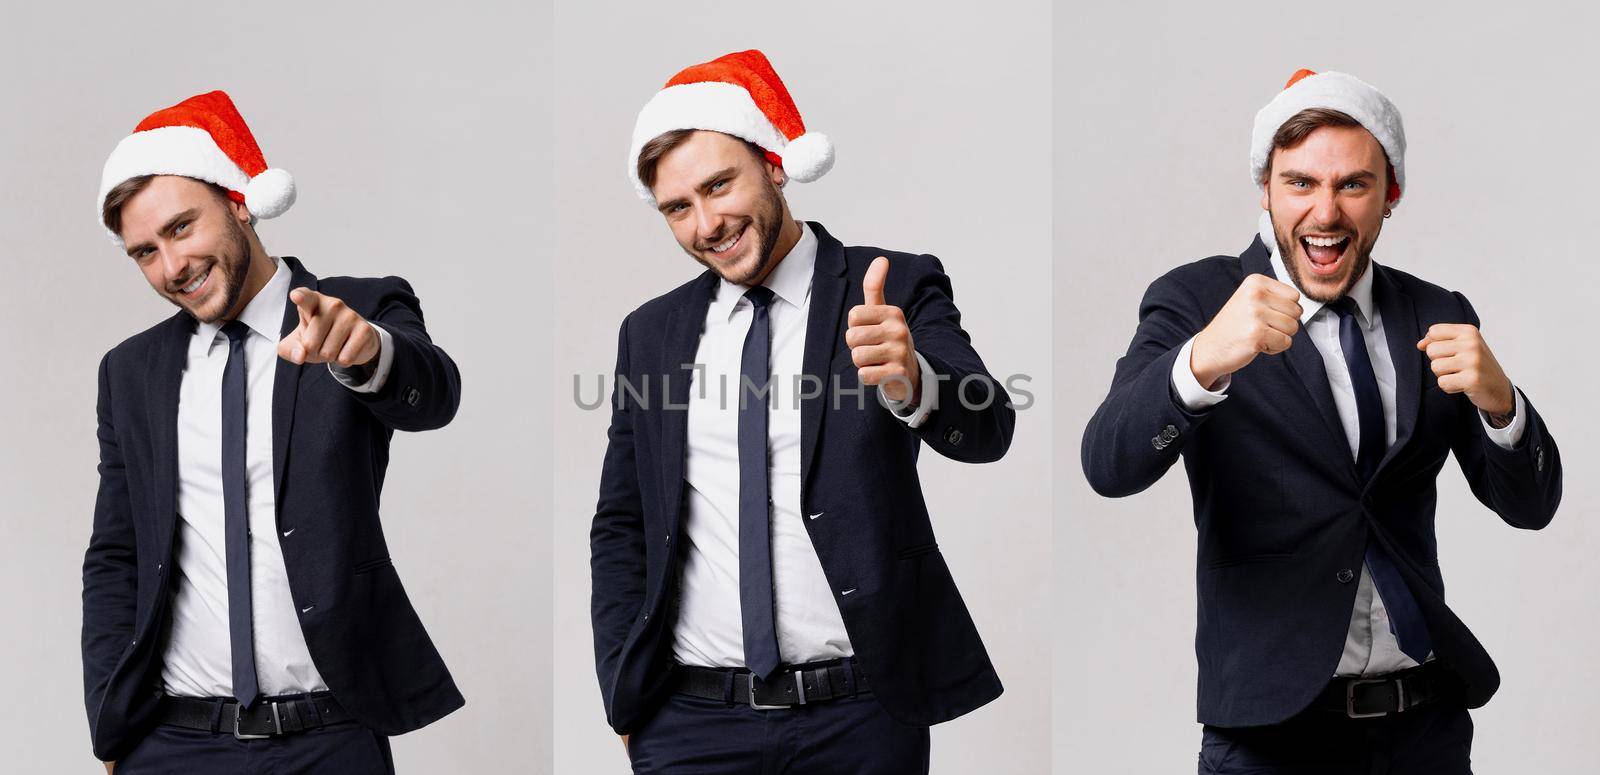
[{"label": "white dress shirt of the shouting man with raised fists", "polygon": [[[1272,272],[1280,280],[1293,285],[1290,272],[1283,266],[1283,258],[1278,255],[1278,243],[1272,234],[1272,219],[1266,213],[1261,216],[1261,240],[1272,253]],[[1384,407],[1384,448],[1387,448],[1395,442],[1395,365],[1387,339],[1384,338],[1382,315],[1373,303],[1373,267],[1376,266],[1373,263],[1362,272],[1362,277],[1350,287],[1349,296],[1355,301],[1357,322],[1362,325],[1362,335],[1366,339],[1366,354],[1373,362],[1373,375],[1378,378],[1378,396]],[[1317,347],[1317,354],[1322,355],[1323,370],[1328,373],[1328,388],[1333,392],[1333,404],[1339,413],[1339,424],[1344,426],[1344,437],[1350,445],[1350,458],[1354,460],[1360,450],[1362,431],[1360,416],[1355,408],[1355,388],[1350,383],[1350,371],[1344,365],[1344,351],[1339,346],[1339,315],[1333,309],[1328,309],[1326,304],[1306,296],[1304,291],[1299,303],[1301,325]],[[1203,388],[1189,367],[1190,349],[1194,349],[1194,338],[1184,343],[1178,360],[1173,363],[1173,388],[1176,388],[1184,407],[1190,412],[1200,412],[1227,399],[1232,375],[1222,376],[1213,389]],[[1490,439],[1507,450],[1517,445],[1526,426],[1522,392],[1515,389],[1512,392],[1517,402],[1515,418],[1506,428],[1491,426],[1488,416],[1482,412],[1478,413]],[[1427,660],[1432,658],[1434,655],[1429,653]],[[1378,594],[1378,588],[1373,584],[1371,573],[1363,564],[1362,578],[1355,589],[1355,605],[1350,612],[1350,628],[1344,639],[1344,653],[1339,657],[1334,676],[1381,676],[1397,669],[1414,668],[1416,665],[1416,660],[1400,650],[1398,640],[1389,629],[1389,612],[1384,607],[1382,596]]]}]

